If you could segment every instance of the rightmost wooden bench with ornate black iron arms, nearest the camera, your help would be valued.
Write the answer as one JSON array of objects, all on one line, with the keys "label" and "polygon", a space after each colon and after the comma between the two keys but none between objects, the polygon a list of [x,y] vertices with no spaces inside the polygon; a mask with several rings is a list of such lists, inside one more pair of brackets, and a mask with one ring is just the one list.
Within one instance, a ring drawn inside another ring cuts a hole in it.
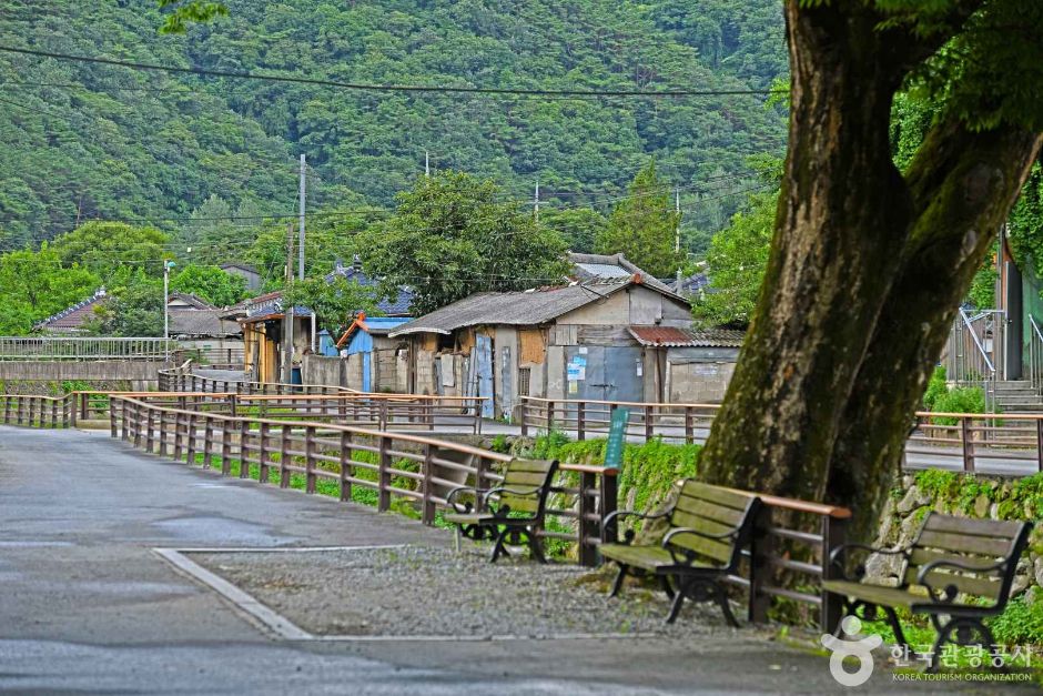
[{"label": "rightmost wooden bench with ornate black iron arms, nearest the camera", "polygon": [[[895,609],[925,614],[938,632],[931,663],[931,668],[936,669],[939,654],[946,643],[980,644],[991,649],[992,633],[982,619],[1002,613],[1006,606],[1017,559],[1031,531],[1030,522],[969,520],[931,512],[907,548],[881,549],[863,544],[833,548],[830,564],[840,571],[842,578],[826,581],[822,587],[842,598],[842,616],[858,615],[861,611],[862,618],[872,619],[877,608],[883,609],[900,645],[908,642]],[[898,585],[864,582],[864,564],[857,566],[853,577],[849,576],[845,555],[855,549],[900,556]],[[975,633],[979,643],[971,643]]]}]

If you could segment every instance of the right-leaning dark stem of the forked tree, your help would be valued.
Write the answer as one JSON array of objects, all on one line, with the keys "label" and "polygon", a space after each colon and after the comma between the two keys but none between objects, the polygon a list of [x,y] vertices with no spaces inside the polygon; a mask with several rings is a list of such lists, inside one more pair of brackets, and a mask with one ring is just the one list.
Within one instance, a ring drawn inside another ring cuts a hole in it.
[{"label": "right-leaning dark stem of the forked tree", "polygon": [[1021,129],[974,133],[946,123],[933,129],[910,168],[917,218],[848,397],[827,487],[829,501],[862,513],[852,532],[863,541],[875,533],[877,512],[900,471],[912,413],[956,307],[1040,142],[1039,134]]}]

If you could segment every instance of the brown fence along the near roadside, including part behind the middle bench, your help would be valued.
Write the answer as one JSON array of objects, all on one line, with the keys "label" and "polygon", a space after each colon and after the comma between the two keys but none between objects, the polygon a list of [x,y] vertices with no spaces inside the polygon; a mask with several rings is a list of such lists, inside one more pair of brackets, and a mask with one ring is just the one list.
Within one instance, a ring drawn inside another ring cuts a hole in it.
[{"label": "brown fence along the near roadside, including part behind the middle bench", "polygon": [[[74,424],[78,411],[93,413],[92,408],[101,407],[99,394],[3,395],[4,423]],[[256,477],[260,483],[277,480],[283,488],[296,476],[303,478],[305,493],[328,493],[344,502],[354,500],[355,490],[369,491],[377,510],[387,511],[396,500],[405,501],[416,506],[421,522],[428,525],[435,523],[437,510],[447,506],[445,496],[452,487],[495,485],[503,481],[497,468],[512,458],[421,435],[206,410],[220,406],[221,397],[239,399],[237,394],[103,396],[111,435],[136,448],[219,468],[226,476]],[[192,407],[171,406],[171,402]],[[598,545],[616,534],[602,521],[615,512],[618,497],[615,470],[563,464],[547,508],[554,524],[540,534],[574,545],[577,563],[597,565]],[[772,599],[783,597],[808,607],[809,616],[821,626],[832,627],[840,607],[836,597],[822,592],[821,582],[832,576],[828,551],[843,542],[850,511],[771,495],[761,500],[764,512],[755,542],[743,551],[745,572],[730,578],[747,598],[750,619],[766,622]],[[783,586],[778,571],[799,579]]]}]

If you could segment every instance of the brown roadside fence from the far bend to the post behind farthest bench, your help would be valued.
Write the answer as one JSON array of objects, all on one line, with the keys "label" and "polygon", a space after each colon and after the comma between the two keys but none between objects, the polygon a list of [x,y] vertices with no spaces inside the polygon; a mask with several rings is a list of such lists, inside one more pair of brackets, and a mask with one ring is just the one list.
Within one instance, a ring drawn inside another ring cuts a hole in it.
[{"label": "brown roadside fence from the far bend to the post behind farthest bench", "polygon": [[[160,406],[112,395],[111,434],[135,447],[175,460],[220,466],[240,477],[267,483],[277,475],[304,476],[306,493],[320,481],[335,486],[341,501],[352,490],[376,493],[376,507],[387,511],[394,498],[412,501],[421,521],[435,522],[445,495],[465,482],[489,487],[503,480],[497,471],[510,456],[462,443],[312,421],[284,421]],[[360,458],[360,455],[362,458]],[[557,522],[543,535],[575,543],[581,563],[591,564],[599,543],[600,520],[615,510],[616,473],[601,467],[563,465],[547,515]]]}]

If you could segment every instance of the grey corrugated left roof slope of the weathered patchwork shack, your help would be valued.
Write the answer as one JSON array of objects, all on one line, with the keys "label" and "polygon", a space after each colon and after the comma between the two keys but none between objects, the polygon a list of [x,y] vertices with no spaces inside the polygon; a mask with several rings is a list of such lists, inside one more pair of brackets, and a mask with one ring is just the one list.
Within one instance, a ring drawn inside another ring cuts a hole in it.
[{"label": "grey corrugated left roof slope of the weathered patchwork shack", "polygon": [[388,335],[448,334],[456,329],[480,324],[545,324],[630,284],[627,278],[621,282],[577,283],[525,292],[480,292],[414,319]]}]

